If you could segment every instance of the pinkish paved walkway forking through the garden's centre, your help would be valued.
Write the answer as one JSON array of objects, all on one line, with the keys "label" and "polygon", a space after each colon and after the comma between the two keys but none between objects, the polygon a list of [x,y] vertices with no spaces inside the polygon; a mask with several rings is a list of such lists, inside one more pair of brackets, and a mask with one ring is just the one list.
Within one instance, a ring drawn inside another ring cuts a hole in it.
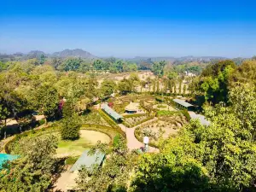
[{"label": "pinkish paved walkway forking through the garden's centre", "polygon": [[[148,120],[148,121],[144,122],[143,124],[146,124],[148,122],[154,121],[155,119],[156,118]],[[141,124],[141,125],[143,125],[143,124]],[[139,125],[137,125],[137,126],[135,126],[133,128],[127,128],[125,125],[119,124],[119,127],[122,129],[122,131],[125,131],[125,133],[126,133],[127,148],[129,148],[130,150],[138,149],[138,148],[143,148],[144,147],[144,144],[139,142],[137,140],[137,138],[135,137],[135,135],[134,135],[134,131],[135,131],[135,129],[138,126]],[[159,149],[149,146],[149,152],[157,153],[157,152],[159,152]]]}]

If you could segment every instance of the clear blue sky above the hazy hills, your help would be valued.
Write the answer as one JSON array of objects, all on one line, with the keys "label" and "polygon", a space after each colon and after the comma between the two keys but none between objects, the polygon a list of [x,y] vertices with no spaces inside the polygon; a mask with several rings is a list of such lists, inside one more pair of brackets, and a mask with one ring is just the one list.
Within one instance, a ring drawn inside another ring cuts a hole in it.
[{"label": "clear blue sky above the hazy hills", "polygon": [[0,52],[256,55],[255,0],[3,0]]}]

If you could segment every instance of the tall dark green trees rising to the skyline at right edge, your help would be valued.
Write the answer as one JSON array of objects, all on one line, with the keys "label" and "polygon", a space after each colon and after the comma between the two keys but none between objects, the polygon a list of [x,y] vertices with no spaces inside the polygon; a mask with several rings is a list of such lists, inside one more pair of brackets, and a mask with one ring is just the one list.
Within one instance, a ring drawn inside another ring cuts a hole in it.
[{"label": "tall dark green trees rising to the skyline at right edge", "polygon": [[195,95],[203,95],[205,102],[215,105],[228,103],[228,92],[239,83],[256,84],[256,60],[243,61],[237,66],[234,61],[218,61],[208,65],[199,77],[191,82]]}]

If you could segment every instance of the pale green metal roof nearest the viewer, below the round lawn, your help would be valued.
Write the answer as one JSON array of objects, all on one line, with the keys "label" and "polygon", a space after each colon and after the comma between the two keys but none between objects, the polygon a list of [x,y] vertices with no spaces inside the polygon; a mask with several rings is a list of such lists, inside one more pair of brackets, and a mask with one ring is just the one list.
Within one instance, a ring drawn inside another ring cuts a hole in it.
[{"label": "pale green metal roof nearest the viewer, below the round lawn", "polygon": [[88,154],[89,149],[85,150],[84,153],[79,157],[79,160],[75,162],[75,164],[71,167],[69,172],[74,172],[76,170],[80,170],[82,166],[86,168],[91,168],[93,165],[100,166],[102,164],[102,160],[104,160],[105,154],[102,154],[98,150],[93,155]]}]

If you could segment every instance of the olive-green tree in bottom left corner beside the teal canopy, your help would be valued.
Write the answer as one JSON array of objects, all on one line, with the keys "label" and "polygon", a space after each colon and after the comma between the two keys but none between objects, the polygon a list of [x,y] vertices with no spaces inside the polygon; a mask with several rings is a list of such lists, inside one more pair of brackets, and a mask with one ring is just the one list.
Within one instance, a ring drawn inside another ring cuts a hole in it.
[{"label": "olive-green tree in bottom left corner beside the teal canopy", "polygon": [[3,167],[0,189],[3,191],[44,191],[55,173],[57,138],[33,137],[21,140],[14,153],[20,154]]}]

